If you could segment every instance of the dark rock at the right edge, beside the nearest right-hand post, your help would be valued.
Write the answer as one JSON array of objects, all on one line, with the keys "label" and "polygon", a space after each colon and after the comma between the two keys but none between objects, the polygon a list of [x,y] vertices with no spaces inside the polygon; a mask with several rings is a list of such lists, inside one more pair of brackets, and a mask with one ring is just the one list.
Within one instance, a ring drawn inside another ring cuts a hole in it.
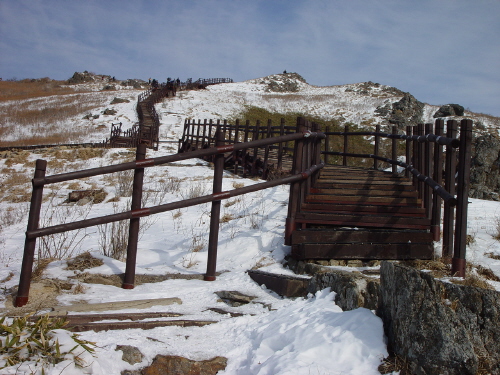
[{"label": "dark rock at the right edge, beside the nearest right-hand post", "polygon": [[480,136],[474,144],[471,163],[471,198],[500,200],[500,139]]}]

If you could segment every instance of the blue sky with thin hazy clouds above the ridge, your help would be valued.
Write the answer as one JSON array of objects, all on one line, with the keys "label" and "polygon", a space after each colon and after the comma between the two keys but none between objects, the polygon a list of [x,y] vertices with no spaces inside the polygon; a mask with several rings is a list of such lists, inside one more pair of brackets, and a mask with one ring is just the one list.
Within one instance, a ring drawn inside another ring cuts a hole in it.
[{"label": "blue sky with thin hazy clouds above the ridge", "polygon": [[373,81],[500,116],[500,0],[0,0],[0,77]]}]

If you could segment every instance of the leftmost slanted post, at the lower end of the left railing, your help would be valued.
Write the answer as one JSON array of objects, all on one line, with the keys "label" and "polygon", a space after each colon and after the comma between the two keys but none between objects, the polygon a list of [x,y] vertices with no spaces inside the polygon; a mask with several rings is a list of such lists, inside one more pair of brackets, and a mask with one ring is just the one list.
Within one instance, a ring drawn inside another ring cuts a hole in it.
[{"label": "leftmost slanted post, at the lower end of the left railing", "polygon": [[[47,161],[37,159],[35,165],[35,178],[44,178],[47,169]],[[35,186],[31,193],[30,212],[28,216],[28,226],[26,228],[26,239],[24,241],[23,263],[21,266],[21,276],[19,277],[19,287],[14,306],[21,307],[28,303],[30,292],[31,273],[33,270],[33,261],[35,259],[36,237],[28,239],[30,230],[38,229],[40,221],[40,210],[42,208],[43,185]]]}]

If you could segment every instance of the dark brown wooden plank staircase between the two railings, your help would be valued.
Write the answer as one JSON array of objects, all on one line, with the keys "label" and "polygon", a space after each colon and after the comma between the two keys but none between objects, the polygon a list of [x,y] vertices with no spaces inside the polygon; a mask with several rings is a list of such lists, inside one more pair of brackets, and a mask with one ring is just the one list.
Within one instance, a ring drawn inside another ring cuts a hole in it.
[{"label": "dark brown wooden plank staircase between the two railings", "polygon": [[432,259],[430,219],[412,182],[326,166],[295,216],[295,259]]}]

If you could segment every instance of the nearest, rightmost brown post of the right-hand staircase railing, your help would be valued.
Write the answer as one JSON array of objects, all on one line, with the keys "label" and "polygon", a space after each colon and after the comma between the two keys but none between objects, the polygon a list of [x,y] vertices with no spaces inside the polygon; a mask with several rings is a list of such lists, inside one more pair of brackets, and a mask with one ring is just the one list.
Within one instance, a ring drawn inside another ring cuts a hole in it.
[{"label": "nearest, rightmost brown post of the right-hand staircase railing", "polygon": [[467,206],[469,203],[470,163],[472,148],[472,120],[460,122],[460,152],[458,155],[457,222],[455,226],[455,251],[451,273],[465,277],[465,251],[467,240]]}]

